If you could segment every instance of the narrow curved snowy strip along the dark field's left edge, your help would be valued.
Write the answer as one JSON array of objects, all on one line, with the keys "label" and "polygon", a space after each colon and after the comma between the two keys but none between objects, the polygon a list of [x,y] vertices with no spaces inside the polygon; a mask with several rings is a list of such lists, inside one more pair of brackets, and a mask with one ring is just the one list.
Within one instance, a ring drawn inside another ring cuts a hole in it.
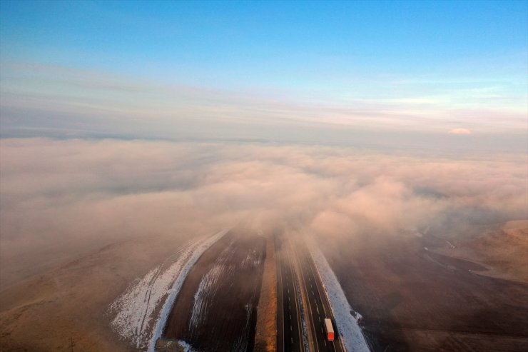
[{"label": "narrow curved snowy strip along the dark field's left edge", "polygon": [[194,247],[195,249],[193,250],[193,253],[188,258],[188,261],[183,265],[183,268],[180,274],[178,275],[178,278],[176,278],[176,281],[174,281],[171,293],[168,295],[168,298],[163,304],[163,308],[161,309],[160,316],[156,323],[156,328],[154,328],[153,331],[151,342],[148,344],[149,352],[154,352],[156,341],[158,340],[158,338],[161,337],[161,334],[163,333],[163,328],[165,327],[168,314],[171,313],[174,301],[176,301],[176,297],[178,296],[181,286],[183,285],[183,281],[185,281],[189,271],[191,271],[191,268],[193,268],[194,264],[196,263],[196,261],[198,261],[203,252],[205,252],[210,246],[213,246],[213,243],[222,238],[222,236],[224,236],[225,233],[228,233],[228,231],[229,230],[223,230],[213,236],[205,238],[202,241],[198,242]]}]

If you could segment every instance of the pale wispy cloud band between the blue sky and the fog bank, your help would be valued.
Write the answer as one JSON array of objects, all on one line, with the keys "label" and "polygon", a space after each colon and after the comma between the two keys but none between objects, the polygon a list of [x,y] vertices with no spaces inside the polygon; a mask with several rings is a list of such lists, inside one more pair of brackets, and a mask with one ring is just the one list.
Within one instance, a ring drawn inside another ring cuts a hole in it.
[{"label": "pale wispy cloud band between the blue sky and the fog bank", "polygon": [[[405,135],[412,143],[424,134],[445,134],[454,125],[500,139],[512,134],[519,139],[519,132],[528,132],[525,107],[501,106],[504,101],[500,99],[505,96],[494,87],[430,95],[414,87],[392,95],[385,91],[377,97],[347,99],[337,98],[342,94],[323,94],[313,101],[309,94],[298,91],[281,91],[281,95],[258,89],[228,91],[161,84],[44,64],[2,64],[1,75],[4,136],[22,136],[29,131],[50,136],[44,131],[62,130],[82,137],[85,130],[84,136],[95,131],[134,138],[214,135],[290,141],[302,139],[303,131],[318,129],[324,131],[319,136],[333,142],[332,134],[342,129],[363,136],[382,133],[401,139]],[[489,105],[493,100],[489,94],[499,103]],[[472,104],[457,103],[471,99]],[[485,103],[481,105],[481,101]],[[390,144],[390,139],[385,141]]]}]

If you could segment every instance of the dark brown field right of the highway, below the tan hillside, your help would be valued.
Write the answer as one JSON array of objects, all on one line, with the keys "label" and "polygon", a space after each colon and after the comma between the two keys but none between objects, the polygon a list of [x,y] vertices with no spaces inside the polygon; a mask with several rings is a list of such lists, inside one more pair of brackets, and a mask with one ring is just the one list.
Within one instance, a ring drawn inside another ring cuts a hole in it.
[{"label": "dark brown field right of the highway, below the tan hillside", "polygon": [[372,351],[528,351],[528,284],[426,251],[427,236],[325,244]]}]

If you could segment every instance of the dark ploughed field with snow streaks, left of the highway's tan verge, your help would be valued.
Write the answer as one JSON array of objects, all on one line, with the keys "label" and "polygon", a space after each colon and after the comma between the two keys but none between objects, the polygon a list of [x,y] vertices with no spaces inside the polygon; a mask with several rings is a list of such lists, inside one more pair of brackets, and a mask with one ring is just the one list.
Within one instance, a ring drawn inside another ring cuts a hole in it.
[{"label": "dark ploughed field with snow streaks, left of the highway's tan verge", "polygon": [[197,351],[253,351],[265,238],[230,231],[188,274],[164,332]]}]

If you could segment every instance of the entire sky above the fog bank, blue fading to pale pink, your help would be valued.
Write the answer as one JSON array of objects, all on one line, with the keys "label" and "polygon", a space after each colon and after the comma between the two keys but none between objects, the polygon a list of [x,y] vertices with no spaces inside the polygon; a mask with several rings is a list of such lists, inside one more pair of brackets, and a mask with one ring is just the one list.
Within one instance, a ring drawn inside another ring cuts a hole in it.
[{"label": "entire sky above the fog bank, blue fading to pale pink", "polygon": [[525,151],[526,1],[2,1],[1,133]]}]

